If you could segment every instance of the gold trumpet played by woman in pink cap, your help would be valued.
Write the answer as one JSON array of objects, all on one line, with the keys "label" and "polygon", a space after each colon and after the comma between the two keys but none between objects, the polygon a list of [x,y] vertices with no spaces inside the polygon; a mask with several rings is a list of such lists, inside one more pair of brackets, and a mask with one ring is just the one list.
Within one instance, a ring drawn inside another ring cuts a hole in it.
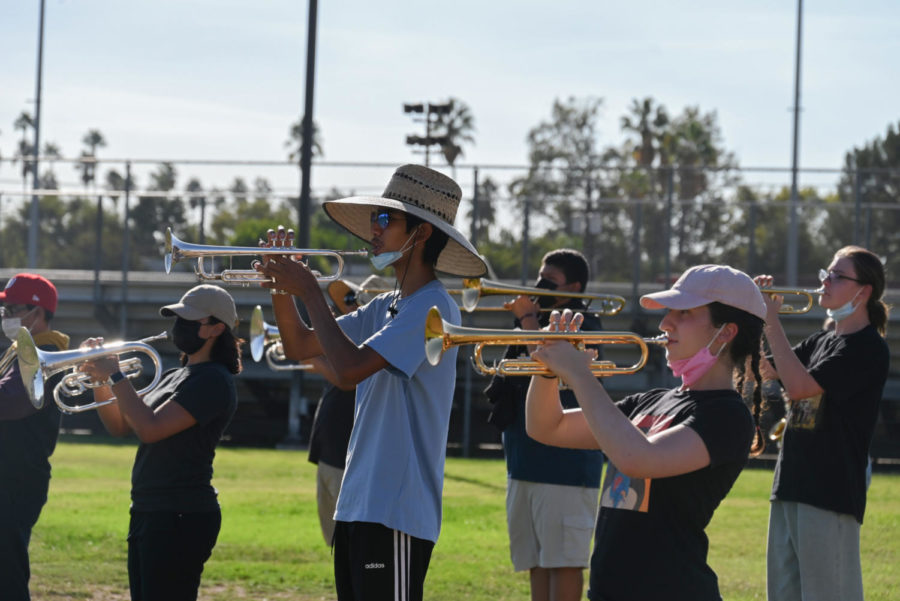
[{"label": "gold trumpet played by woman in pink cap", "polygon": [[591,361],[595,377],[633,374],[647,364],[649,345],[665,345],[666,336],[642,338],[632,332],[545,332],[543,330],[491,330],[451,324],[441,317],[437,307],[428,311],[425,320],[425,356],[431,365],[441,361],[444,352],[455,346],[474,344],[472,351],[475,369],[486,376],[542,376],[553,375],[544,365],[532,359],[503,359],[489,366],[482,358],[485,346],[534,345],[550,340],[568,340],[579,348],[586,345],[633,344],[640,350],[640,359],[632,365],[616,365],[612,361]]}]

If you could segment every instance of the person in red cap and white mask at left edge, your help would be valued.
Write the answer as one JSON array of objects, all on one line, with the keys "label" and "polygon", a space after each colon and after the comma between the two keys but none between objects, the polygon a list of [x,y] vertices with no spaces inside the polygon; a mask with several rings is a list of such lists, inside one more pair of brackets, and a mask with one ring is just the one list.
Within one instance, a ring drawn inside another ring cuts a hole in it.
[{"label": "person in red cap and white mask at left edge", "polygon": [[[26,328],[46,351],[65,350],[69,337],[53,330],[56,287],[33,273],[20,273],[0,292],[3,333],[14,340]],[[61,376],[58,376],[61,377]],[[15,345],[0,358],[0,585],[3,598],[30,599],[28,543],[47,501],[50,455],[59,435],[60,413],[49,392],[41,409],[29,400],[19,374]]]}]

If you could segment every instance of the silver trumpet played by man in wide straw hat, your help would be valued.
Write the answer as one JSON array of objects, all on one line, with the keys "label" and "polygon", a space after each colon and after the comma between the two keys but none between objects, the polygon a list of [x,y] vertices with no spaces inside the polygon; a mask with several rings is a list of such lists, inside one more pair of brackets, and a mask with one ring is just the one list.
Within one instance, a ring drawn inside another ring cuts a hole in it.
[{"label": "silver trumpet played by man in wide straw hat", "polygon": [[211,246],[206,244],[191,244],[179,240],[172,233],[172,228],[166,228],[166,273],[171,272],[172,265],[183,259],[197,259],[195,271],[201,280],[217,280],[231,284],[247,286],[251,283],[271,282],[272,280],[262,275],[255,269],[223,269],[221,272],[207,271],[204,259],[207,257],[252,257],[261,255],[303,255],[305,257],[328,257],[335,262],[333,273],[319,275],[316,279],[320,282],[331,282],[344,271],[344,257],[368,256],[367,250],[320,250],[312,248],[294,248],[293,246],[276,246],[264,248],[259,246]]}]

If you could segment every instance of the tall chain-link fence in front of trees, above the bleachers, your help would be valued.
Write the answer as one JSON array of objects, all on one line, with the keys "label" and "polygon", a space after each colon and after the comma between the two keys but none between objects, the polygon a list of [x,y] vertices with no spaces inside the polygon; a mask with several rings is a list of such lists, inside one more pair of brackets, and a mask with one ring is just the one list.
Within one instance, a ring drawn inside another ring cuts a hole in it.
[{"label": "tall chain-link fence in front of trees, above the bleachers", "polygon": [[[88,171],[84,161],[45,160],[44,189],[32,187],[21,162],[13,169],[9,163],[0,162],[0,266],[90,269],[99,261],[104,268],[153,269],[166,227],[195,241],[234,245],[252,238],[248,225],[265,231],[276,218],[295,226],[301,219],[299,170],[288,162],[104,160]],[[306,217],[312,241],[336,235],[316,235],[330,227],[316,201],[378,195],[395,167],[315,163],[313,211]],[[900,245],[900,170],[801,170],[792,200],[786,168],[441,169],[464,190],[457,227],[497,277],[529,280],[546,250],[572,246],[586,254],[599,281],[670,280],[706,262],[783,281],[795,261],[796,284],[813,285],[834,250],[860,244],[885,257],[889,286],[900,281],[900,264],[891,261]],[[57,180],[54,171],[72,180],[80,174],[82,181]],[[792,211],[799,224],[796,257],[787,256]]]}]

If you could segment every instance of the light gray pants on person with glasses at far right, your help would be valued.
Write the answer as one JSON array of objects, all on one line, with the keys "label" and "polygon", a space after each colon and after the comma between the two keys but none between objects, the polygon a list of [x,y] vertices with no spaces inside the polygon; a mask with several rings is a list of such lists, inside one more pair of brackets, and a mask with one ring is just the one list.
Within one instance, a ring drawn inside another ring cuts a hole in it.
[{"label": "light gray pants on person with glasses at far right", "polygon": [[772,501],[768,601],[863,601],[859,522],[805,503]]}]

